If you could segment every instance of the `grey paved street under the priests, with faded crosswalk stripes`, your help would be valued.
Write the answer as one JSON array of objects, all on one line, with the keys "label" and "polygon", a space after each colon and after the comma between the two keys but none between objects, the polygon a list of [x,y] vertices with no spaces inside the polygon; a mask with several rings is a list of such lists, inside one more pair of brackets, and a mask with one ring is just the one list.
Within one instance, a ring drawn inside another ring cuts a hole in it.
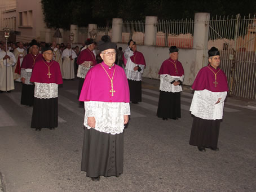
[{"label": "grey paved street under the priests, with faded crosswalk stripes", "polygon": [[[182,93],[182,118],[156,117],[159,81],[143,79],[143,102],[131,104],[125,129],[124,171],[91,181],[80,171],[83,109],[78,81],[59,88],[59,127],[30,128],[32,108],[20,105],[21,84],[0,94],[0,178],[7,192],[255,191],[256,108],[228,98],[219,151],[188,145],[191,91]],[[1,182],[0,182],[1,191]]]}]

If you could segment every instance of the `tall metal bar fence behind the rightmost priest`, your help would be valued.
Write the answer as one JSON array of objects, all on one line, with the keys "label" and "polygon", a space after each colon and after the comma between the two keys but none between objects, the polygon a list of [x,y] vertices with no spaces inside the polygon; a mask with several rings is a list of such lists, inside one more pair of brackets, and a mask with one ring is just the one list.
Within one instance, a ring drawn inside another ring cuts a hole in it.
[{"label": "tall metal bar fence behind the rightmost priest", "polygon": [[220,50],[221,68],[227,75],[229,94],[256,97],[256,18],[215,16],[210,20],[208,49]]}]

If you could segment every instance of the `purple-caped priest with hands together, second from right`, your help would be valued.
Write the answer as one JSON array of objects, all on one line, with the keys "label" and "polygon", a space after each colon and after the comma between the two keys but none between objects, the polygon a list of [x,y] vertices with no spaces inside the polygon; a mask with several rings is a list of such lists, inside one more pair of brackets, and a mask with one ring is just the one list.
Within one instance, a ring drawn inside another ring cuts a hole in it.
[{"label": "purple-caped priest with hands together, second from right", "polygon": [[181,62],[178,61],[178,48],[169,48],[170,58],[166,59],[159,70],[160,74],[160,95],[157,108],[157,117],[163,120],[181,118],[180,113],[180,92],[184,70]]}]

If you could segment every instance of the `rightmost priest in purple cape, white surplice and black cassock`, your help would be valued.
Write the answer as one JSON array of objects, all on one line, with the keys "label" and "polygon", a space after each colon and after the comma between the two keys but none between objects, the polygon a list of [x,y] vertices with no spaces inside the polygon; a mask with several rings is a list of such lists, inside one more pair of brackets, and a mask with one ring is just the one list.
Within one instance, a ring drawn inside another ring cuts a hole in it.
[{"label": "rightmost priest in purple cape, white surplice and black cassock", "polygon": [[198,72],[192,85],[195,93],[190,107],[193,124],[189,145],[197,146],[199,151],[219,150],[219,127],[228,92],[227,77],[219,68],[218,49],[211,47],[208,55],[209,65]]}]

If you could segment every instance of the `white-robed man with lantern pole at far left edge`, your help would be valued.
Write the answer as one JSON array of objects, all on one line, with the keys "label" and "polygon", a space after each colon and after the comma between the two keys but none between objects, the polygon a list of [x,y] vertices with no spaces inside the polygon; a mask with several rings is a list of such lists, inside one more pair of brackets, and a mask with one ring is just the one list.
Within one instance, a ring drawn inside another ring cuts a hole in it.
[{"label": "white-robed man with lantern pole at far left edge", "polygon": [[[11,92],[14,90],[14,75],[12,66],[15,65],[16,59],[12,52],[7,51],[6,44],[3,44],[3,50],[0,52],[0,92]],[[7,89],[6,89],[6,68],[7,68]]]}]

